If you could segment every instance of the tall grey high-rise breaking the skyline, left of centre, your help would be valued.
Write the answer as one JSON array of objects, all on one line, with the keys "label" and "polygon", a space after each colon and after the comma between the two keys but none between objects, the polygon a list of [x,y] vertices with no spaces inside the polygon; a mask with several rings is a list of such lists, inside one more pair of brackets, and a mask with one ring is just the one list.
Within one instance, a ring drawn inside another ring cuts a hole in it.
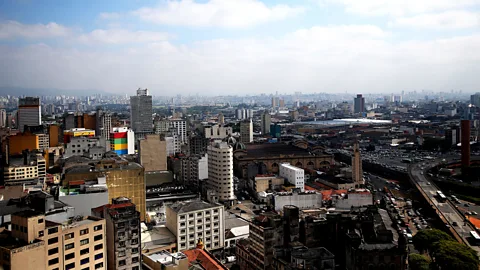
[{"label": "tall grey high-rise breaking the skyline, left of centre", "polygon": [[153,133],[152,96],[148,89],[138,89],[136,96],[130,97],[130,124],[137,138]]}]

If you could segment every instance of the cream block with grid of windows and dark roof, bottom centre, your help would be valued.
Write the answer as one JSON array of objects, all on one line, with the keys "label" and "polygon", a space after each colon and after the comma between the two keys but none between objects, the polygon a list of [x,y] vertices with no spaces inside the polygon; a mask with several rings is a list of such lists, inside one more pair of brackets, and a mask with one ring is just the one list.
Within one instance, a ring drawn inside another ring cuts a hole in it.
[{"label": "cream block with grid of windows and dark roof, bottom centre", "polygon": [[167,228],[177,238],[179,251],[203,241],[208,250],[222,249],[225,240],[224,208],[204,201],[179,202],[167,206]]}]

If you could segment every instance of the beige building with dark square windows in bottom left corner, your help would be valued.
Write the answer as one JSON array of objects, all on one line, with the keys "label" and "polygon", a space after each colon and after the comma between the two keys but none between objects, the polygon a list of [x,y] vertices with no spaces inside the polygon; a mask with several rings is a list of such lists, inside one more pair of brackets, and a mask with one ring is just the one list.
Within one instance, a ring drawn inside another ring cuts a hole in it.
[{"label": "beige building with dark square windows in bottom left corner", "polygon": [[12,230],[0,234],[5,269],[105,269],[105,220],[76,217],[52,222],[40,212],[12,215]]}]

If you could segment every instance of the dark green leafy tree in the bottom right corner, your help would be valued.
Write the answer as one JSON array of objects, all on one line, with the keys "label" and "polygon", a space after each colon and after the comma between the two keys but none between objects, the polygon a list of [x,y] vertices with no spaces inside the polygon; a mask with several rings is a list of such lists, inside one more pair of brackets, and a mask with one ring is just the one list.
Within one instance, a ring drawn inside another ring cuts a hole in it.
[{"label": "dark green leafy tree in the bottom right corner", "polygon": [[440,240],[432,246],[435,264],[441,269],[478,270],[477,252],[452,240]]}]

